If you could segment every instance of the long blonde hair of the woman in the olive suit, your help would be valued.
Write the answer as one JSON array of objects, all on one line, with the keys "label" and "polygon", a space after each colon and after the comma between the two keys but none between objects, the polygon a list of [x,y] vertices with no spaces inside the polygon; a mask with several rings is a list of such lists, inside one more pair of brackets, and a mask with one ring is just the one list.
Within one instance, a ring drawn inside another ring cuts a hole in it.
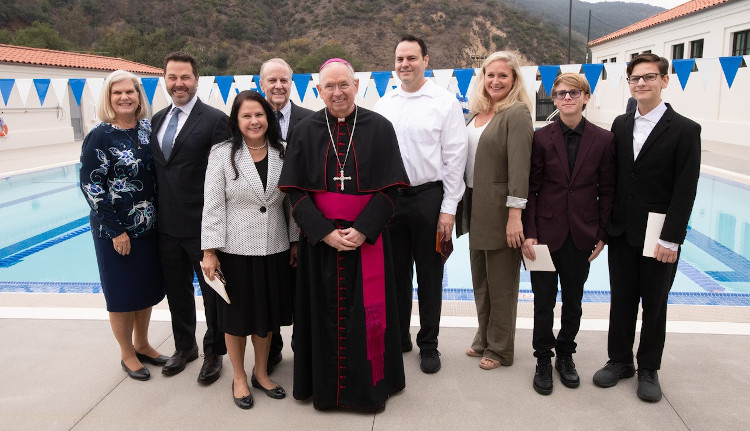
[{"label": "long blonde hair of the woman in the olive suit", "polygon": [[[487,90],[484,89],[484,74],[487,70],[487,66],[495,61],[504,61],[511,71],[513,72],[513,88],[507,96],[502,100],[492,104],[490,95],[487,94]],[[474,90],[472,91],[471,98],[469,99],[469,109],[472,113],[477,114],[487,109],[493,108],[495,112],[500,112],[513,105],[516,102],[523,103],[531,111],[531,100],[526,94],[526,86],[521,76],[521,66],[518,62],[518,58],[508,51],[498,51],[490,54],[482,63],[482,69],[476,82],[474,83]]]}]

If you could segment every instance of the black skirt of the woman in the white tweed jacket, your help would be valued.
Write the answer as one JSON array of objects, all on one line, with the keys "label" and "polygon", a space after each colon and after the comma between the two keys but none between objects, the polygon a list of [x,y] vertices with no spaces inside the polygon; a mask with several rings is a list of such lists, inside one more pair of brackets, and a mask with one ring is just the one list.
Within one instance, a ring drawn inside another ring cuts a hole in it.
[{"label": "black skirt of the woman in the white tweed jacket", "polygon": [[265,337],[292,324],[289,250],[270,256],[216,253],[231,304],[219,299],[219,329],[230,335]]}]

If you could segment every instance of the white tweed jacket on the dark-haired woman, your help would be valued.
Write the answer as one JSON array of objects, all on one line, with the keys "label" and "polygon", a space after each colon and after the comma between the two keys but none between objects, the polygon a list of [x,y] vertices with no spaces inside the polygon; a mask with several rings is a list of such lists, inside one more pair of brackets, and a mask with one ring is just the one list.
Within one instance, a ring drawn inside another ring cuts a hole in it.
[{"label": "white tweed jacket on the dark-haired woman", "polygon": [[230,160],[232,143],[211,149],[206,169],[201,249],[245,256],[268,256],[289,249],[299,239],[289,197],[278,188],[283,159],[268,147],[267,187],[263,190],[250,150],[235,154],[239,177]]}]

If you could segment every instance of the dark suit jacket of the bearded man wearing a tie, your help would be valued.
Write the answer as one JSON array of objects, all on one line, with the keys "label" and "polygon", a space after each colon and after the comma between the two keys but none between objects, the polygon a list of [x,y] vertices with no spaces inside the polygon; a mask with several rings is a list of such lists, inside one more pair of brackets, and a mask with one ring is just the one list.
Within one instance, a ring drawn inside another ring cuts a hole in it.
[{"label": "dark suit jacket of the bearded man wearing a tie", "polygon": [[208,154],[214,144],[229,139],[229,117],[198,99],[175,137],[169,160],[165,160],[157,133],[170,109],[172,105],[154,114],[151,120],[159,232],[182,238],[200,238]]}]

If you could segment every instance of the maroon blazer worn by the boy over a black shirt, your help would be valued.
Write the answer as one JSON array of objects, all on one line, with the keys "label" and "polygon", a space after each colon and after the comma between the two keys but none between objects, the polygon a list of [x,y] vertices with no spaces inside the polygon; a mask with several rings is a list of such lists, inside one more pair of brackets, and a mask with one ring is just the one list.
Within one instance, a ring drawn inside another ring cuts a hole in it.
[{"label": "maroon blazer worn by the boy over a black shirt", "polygon": [[585,118],[573,174],[559,120],[534,132],[524,235],[562,247],[570,232],[580,250],[607,242],[615,193],[614,135]]}]

